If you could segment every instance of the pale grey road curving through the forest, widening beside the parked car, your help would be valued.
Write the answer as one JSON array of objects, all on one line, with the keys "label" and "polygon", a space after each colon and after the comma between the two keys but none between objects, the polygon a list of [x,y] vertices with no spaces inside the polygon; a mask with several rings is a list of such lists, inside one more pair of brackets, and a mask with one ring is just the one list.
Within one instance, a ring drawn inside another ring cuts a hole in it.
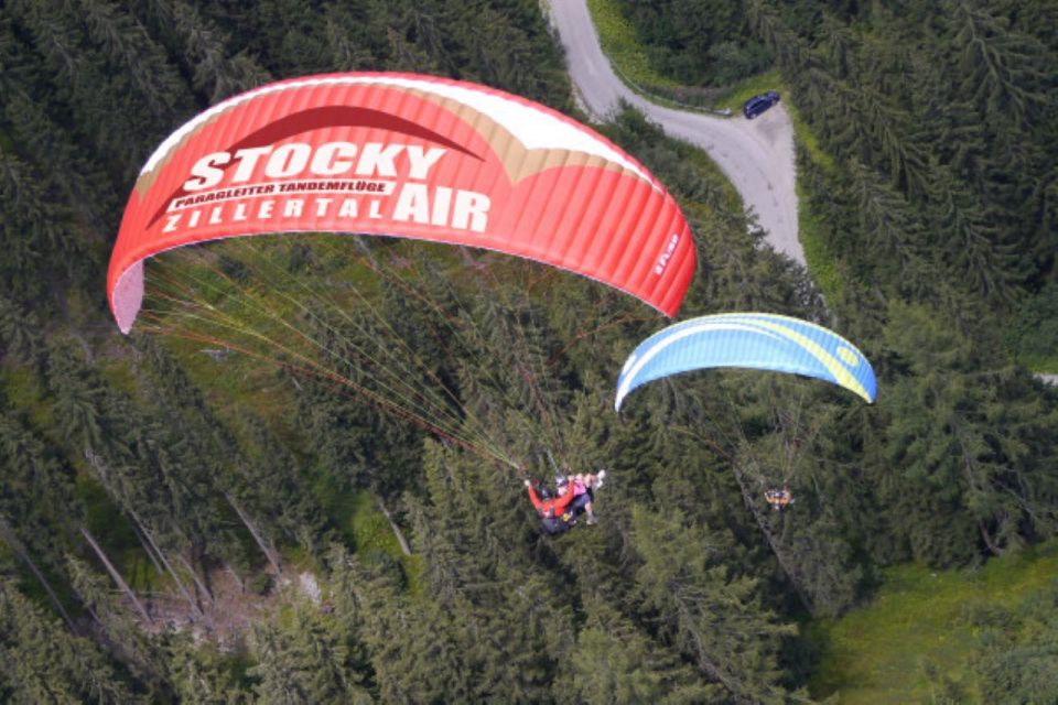
[{"label": "pale grey road curving through the forest, widening beside the parked car", "polygon": [[755,120],[717,118],[657,106],[625,86],[603,54],[585,0],[548,0],[570,76],[584,108],[605,119],[624,99],[665,131],[705,150],[757,216],[767,242],[805,264],[797,239],[794,128],[780,102]]}]

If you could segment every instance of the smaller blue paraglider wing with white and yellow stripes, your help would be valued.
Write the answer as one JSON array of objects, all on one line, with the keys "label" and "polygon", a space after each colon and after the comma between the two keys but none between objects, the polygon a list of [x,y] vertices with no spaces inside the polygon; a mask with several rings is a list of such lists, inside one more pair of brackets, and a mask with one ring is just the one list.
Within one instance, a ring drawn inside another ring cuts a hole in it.
[{"label": "smaller blue paraglider wing with white and yellow stripes", "polygon": [[767,313],[724,313],[692,318],[654,334],[633,351],[617,380],[614,408],[651,380],[713,367],[790,372],[827,380],[867,402],[877,381],[867,358],[832,330]]}]

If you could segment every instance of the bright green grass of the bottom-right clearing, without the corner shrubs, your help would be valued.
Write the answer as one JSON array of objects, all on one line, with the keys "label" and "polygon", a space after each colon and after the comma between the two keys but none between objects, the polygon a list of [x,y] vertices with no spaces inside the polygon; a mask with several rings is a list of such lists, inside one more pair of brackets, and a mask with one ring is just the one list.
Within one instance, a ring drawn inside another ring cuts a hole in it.
[{"label": "bright green grass of the bottom-right clearing, without the corner shrubs", "polygon": [[874,600],[838,621],[809,626],[822,659],[810,681],[813,697],[838,694],[841,703],[930,702],[927,668],[964,687],[973,702],[978,683],[970,658],[978,634],[976,608],[1014,608],[1058,581],[1058,543],[989,561],[979,570],[888,568]]}]

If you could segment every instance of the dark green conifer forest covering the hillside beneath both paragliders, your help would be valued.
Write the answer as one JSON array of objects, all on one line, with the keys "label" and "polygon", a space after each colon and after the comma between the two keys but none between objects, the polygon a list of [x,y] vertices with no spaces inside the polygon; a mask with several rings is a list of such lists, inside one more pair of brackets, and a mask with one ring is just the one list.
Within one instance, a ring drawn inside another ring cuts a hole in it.
[{"label": "dark green conifer forest covering the hillside beneath both paragliders", "polygon": [[[704,152],[592,123],[690,224],[674,321],[825,326],[877,400],[721,369],[616,413],[673,321],[356,232],[162,252],[123,335],[126,202],[222,100],[402,72],[590,117],[537,0],[0,0],[0,702],[853,702],[813,625],[1058,540],[1058,1],[609,3],[659,75],[797,116],[808,267]],[[566,468],[597,522],[547,535],[525,481]],[[922,702],[1058,702],[1056,605],[968,617]]]}]

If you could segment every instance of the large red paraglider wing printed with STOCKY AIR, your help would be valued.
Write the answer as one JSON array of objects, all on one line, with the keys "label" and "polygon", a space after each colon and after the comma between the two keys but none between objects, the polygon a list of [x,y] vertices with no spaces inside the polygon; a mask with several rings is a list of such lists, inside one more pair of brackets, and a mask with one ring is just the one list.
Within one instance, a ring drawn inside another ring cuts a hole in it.
[{"label": "large red paraglider wing printed with STOCKY AIR", "polygon": [[590,276],[672,316],[691,231],[638,162],[584,126],[498,90],[408,74],[262,86],[193,118],[143,167],[110,258],[128,333],[143,260],[272,232],[466,245]]}]

